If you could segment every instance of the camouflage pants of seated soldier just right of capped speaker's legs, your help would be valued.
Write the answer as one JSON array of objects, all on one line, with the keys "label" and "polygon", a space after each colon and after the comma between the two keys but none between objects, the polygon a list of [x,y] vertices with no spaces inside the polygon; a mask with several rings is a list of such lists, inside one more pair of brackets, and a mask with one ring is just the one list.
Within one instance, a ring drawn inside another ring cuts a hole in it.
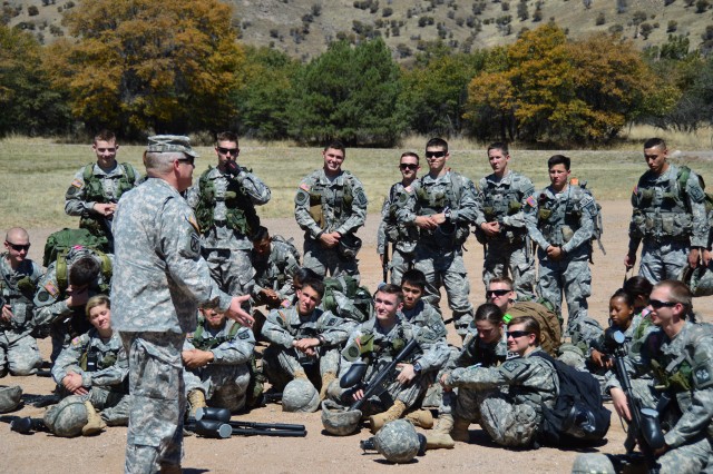
[{"label": "camouflage pants of seated soldier just right of capped speaker's legs", "polygon": [[245,407],[250,367],[247,364],[208,365],[184,372],[186,394],[201,389],[209,406],[240,412]]}]

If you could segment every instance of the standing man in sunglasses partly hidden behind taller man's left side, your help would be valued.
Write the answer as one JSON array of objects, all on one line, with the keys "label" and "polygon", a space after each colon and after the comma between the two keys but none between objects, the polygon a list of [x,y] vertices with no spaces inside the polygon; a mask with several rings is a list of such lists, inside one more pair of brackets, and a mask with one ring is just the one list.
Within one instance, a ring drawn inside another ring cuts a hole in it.
[{"label": "standing man in sunglasses partly hidden behind taller man's left side", "polygon": [[397,210],[401,201],[401,195],[408,194],[406,188],[416,180],[419,169],[421,167],[419,166],[419,156],[417,154],[407,151],[401,155],[399,170],[402,179],[391,186],[389,196],[384,199],[381,209],[381,223],[379,223],[377,233],[377,251],[379,253],[381,266],[383,266],[387,247],[389,244],[393,244],[388,268],[391,271],[391,283],[394,285],[401,285],[401,275],[413,267],[416,243],[419,234],[416,227],[407,227],[397,221]]}]

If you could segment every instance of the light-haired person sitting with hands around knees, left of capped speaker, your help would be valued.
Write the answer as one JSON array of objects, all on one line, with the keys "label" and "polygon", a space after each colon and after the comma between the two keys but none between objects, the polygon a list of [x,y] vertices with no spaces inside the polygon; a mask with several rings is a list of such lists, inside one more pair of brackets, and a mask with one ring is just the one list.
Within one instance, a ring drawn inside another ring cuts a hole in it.
[{"label": "light-haired person sitting with hands around knees, left of capped speaker", "polygon": [[[82,434],[109,426],[126,426],[129,421],[126,377],[129,364],[119,334],[111,330],[111,308],[105,295],[87,302],[87,318],[94,326],[75,337],[57,357],[52,378],[60,394],[79,395],[86,402],[89,422]],[[97,418],[96,409],[101,409]]]}]

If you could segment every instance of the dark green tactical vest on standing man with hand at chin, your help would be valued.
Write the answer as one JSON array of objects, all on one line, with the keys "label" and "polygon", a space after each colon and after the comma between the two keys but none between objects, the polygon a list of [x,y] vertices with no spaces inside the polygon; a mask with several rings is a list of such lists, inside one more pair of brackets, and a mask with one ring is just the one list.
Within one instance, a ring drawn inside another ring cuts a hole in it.
[{"label": "dark green tactical vest on standing man with hand at chin", "polygon": [[224,178],[227,179],[227,189],[225,196],[217,196],[213,179],[208,178],[208,174],[213,169],[213,167],[208,167],[198,180],[199,196],[195,214],[201,231],[203,235],[207,235],[216,224],[214,220],[215,204],[222,200],[225,201],[226,208],[225,226],[250,238],[260,227],[260,217],[257,217],[250,195],[237,179],[224,175]]}]

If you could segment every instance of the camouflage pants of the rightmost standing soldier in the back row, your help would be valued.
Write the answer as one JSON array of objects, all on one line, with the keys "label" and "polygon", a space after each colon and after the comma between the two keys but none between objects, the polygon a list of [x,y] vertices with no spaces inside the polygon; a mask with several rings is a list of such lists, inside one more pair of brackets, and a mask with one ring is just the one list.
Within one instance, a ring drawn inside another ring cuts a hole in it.
[{"label": "camouflage pants of the rightmost standing soldier in the back row", "polygon": [[664,279],[678,279],[681,270],[688,265],[688,250],[687,241],[644,240],[638,275],[654,285]]}]

